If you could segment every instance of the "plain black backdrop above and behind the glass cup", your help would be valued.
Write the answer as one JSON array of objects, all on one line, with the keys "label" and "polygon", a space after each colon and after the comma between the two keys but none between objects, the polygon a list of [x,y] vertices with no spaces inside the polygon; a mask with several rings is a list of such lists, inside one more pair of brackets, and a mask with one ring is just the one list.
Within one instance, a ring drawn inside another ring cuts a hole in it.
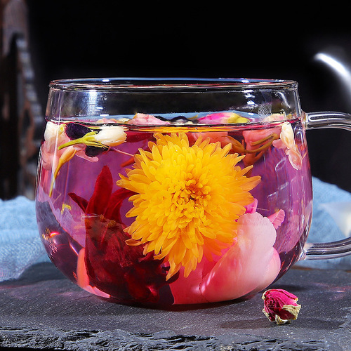
[{"label": "plain black backdrop above and behind the glass cup", "polygon": [[[27,0],[27,6],[44,107],[53,79],[244,77],[298,81],[305,112],[351,112],[351,83],[315,58],[329,53],[351,65],[350,16],[337,4]],[[350,133],[307,131],[307,138],[312,174],[351,191]]]}]

